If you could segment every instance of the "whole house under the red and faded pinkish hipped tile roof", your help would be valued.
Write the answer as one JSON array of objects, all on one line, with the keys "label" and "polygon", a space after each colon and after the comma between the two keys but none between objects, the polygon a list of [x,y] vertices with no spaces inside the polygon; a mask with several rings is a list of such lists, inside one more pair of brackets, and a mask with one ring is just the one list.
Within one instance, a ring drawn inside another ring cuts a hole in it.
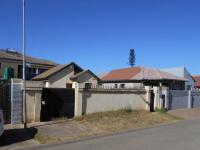
[{"label": "whole house under the red and faded pinkish hipped tile roof", "polygon": [[111,88],[141,88],[144,86],[169,87],[172,90],[184,90],[185,78],[175,76],[159,69],[130,67],[112,70],[101,76],[101,84]]}]

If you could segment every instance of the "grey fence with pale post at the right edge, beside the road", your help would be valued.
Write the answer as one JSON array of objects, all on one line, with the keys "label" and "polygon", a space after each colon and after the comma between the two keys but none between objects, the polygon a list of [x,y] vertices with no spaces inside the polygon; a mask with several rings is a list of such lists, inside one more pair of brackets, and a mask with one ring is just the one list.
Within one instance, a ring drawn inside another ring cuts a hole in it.
[{"label": "grey fence with pale post at the right edge, beside the road", "polygon": [[169,92],[169,109],[196,107],[200,107],[200,91],[171,90]]}]

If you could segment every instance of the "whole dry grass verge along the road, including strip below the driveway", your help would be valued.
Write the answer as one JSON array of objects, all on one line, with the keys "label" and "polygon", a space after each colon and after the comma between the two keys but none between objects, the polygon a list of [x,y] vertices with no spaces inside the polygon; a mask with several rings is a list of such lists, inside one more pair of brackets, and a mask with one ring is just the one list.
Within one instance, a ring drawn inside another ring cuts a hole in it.
[{"label": "whole dry grass verge along the road, including strip below the driveway", "polygon": [[[105,135],[128,129],[150,127],[153,125],[174,122],[179,118],[166,113],[165,111],[148,112],[145,110],[121,109],[117,111],[98,112],[76,117],[73,122],[75,128],[79,131],[72,131],[66,135],[49,134],[48,131],[55,130],[62,132],[63,128],[55,128],[48,125],[48,130],[38,130],[34,135],[34,139],[41,144],[57,143],[61,141],[74,141],[85,137],[93,137],[96,135]],[[66,122],[66,126],[67,126]],[[56,133],[53,131],[53,133]],[[51,136],[50,136],[51,135]]]}]

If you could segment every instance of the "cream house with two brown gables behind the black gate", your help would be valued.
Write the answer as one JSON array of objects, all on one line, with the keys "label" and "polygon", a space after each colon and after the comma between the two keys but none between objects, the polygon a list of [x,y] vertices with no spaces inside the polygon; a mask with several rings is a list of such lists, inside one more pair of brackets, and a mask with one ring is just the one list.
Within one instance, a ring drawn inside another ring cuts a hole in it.
[{"label": "cream house with two brown gables behind the black gate", "polygon": [[[90,70],[83,70],[76,63],[56,66],[33,78],[35,81],[43,81],[49,88],[72,88],[73,83],[86,86],[96,85],[99,78]],[[89,85],[88,85],[89,84]]]}]

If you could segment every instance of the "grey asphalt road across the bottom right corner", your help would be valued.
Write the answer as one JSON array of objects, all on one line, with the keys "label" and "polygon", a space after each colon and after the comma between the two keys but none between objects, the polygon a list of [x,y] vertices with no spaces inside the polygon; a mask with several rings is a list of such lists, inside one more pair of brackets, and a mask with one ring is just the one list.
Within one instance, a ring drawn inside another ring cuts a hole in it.
[{"label": "grey asphalt road across the bottom right corner", "polygon": [[75,143],[42,146],[43,150],[200,150],[200,119],[129,131]]}]

